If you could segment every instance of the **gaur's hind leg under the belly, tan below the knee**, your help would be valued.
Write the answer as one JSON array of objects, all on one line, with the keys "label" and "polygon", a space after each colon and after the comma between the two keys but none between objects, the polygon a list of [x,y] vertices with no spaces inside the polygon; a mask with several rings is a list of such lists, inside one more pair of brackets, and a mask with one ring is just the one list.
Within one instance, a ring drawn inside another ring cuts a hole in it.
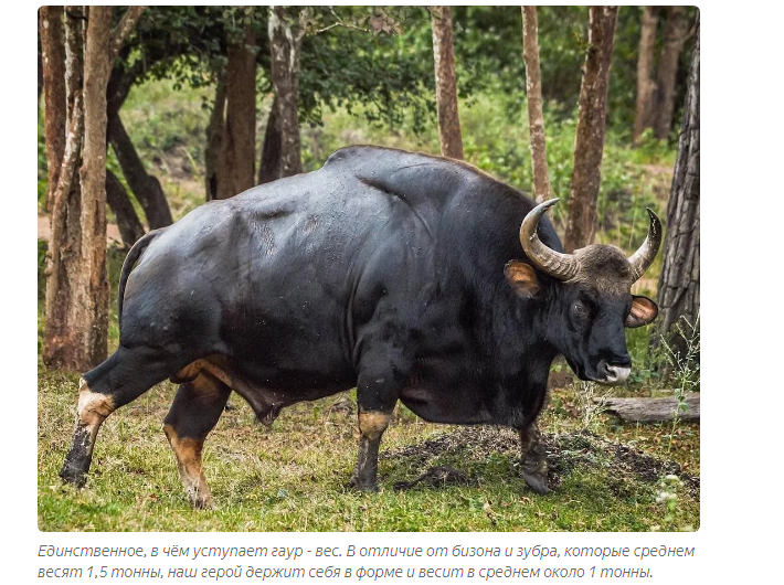
[{"label": "gaur's hind leg under the belly, tan below the knee", "polygon": [[214,500],[206,486],[201,453],[204,438],[218,424],[231,389],[205,371],[180,385],[163,432],[177,458],[180,479],[194,508],[212,508]]}]

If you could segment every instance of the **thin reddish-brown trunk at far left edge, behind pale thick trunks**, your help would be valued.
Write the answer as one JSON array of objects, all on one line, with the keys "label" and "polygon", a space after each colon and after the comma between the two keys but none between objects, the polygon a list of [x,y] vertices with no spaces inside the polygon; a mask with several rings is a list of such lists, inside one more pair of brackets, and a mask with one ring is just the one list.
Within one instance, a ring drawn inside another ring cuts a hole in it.
[{"label": "thin reddish-brown trunk at far left edge, behind pale thick trunks", "polygon": [[[52,211],[52,199],[57,189],[60,162],[65,151],[65,36],[63,7],[41,7],[41,51],[43,67],[44,132],[49,191],[46,210]],[[40,100],[40,99],[39,99]]]}]

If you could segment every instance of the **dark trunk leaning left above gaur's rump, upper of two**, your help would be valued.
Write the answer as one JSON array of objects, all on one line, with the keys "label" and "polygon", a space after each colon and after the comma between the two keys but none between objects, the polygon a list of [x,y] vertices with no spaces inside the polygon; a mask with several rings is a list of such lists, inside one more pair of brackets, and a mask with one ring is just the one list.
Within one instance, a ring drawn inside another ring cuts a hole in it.
[{"label": "dark trunk leaning left above gaur's rump, upper of two", "polygon": [[123,126],[119,114],[113,109],[108,116],[108,136],[112,148],[117,155],[117,160],[123,169],[125,180],[128,181],[128,187],[136,195],[141,209],[145,210],[147,224],[150,230],[171,225],[171,211],[160,181],[156,177],[147,174],[145,166],[136,152],[125,126]]}]

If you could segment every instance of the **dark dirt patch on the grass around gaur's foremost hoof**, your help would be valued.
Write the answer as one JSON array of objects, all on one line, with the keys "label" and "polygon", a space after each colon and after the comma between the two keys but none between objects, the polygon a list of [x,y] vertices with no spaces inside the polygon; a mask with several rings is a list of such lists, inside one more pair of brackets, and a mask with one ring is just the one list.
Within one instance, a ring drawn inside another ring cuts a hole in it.
[{"label": "dark dirt patch on the grass around gaur's foremost hoof", "polygon": [[[552,489],[558,489],[562,478],[579,466],[602,465],[608,467],[610,477],[634,476],[635,479],[646,483],[655,483],[668,475],[677,476],[687,490],[695,498],[699,498],[700,478],[685,474],[677,462],[656,459],[632,447],[612,443],[585,430],[559,435],[543,434],[542,439],[550,467],[548,481]],[[455,459],[483,460],[492,454],[502,454],[515,461],[519,460],[520,439],[517,433],[501,427],[466,427],[416,445],[384,451],[379,458],[406,458],[419,467],[427,467],[437,457],[454,456]],[[443,468],[452,469],[454,472],[439,471]],[[400,482],[402,487],[399,489],[406,489],[404,483],[410,483],[407,487],[421,482],[444,485],[453,482],[460,476],[466,475],[448,466],[432,467],[430,471],[412,482]]]}]

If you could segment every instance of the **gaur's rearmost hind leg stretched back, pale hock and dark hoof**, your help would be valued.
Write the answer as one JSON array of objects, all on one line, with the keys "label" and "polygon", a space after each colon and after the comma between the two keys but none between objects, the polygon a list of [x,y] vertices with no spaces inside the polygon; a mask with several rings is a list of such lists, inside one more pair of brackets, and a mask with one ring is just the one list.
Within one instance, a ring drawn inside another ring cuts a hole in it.
[{"label": "gaur's rearmost hind leg stretched back, pale hock and dark hoof", "polygon": [[120,347],[108,360],[84,374],[80,381],[73,444],[60,477],[78,487],[84,486],[95,438],[106,417],[174,371],[177,366],[161,359],[160,352],[152,348]]}]

